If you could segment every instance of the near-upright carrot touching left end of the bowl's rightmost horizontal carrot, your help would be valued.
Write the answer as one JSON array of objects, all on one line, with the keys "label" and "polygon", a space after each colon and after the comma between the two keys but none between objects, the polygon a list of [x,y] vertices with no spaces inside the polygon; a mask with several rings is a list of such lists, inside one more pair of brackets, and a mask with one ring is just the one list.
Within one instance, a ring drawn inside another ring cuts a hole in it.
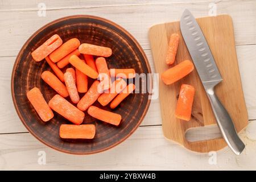
[{"label": "near-upright carrot touching left end of the bowl's rightmost horizontal carrot", "polygon": [[103,86],[104,90],[109,89],[111,86],[111,79],[105,58],[98,57],[95,61],[95,64],[98,70],[98,77],[100,78],[101,85]]}]

